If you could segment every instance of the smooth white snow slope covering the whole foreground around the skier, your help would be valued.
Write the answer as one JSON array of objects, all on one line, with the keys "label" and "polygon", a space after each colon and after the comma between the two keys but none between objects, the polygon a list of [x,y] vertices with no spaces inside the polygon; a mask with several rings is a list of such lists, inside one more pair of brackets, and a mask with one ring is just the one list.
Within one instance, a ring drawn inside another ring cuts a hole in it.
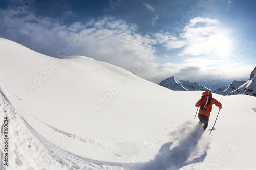
[{"label": "smooth white snow slope covering the whole foreground around the skier", "polygon": [[[0,92],[1,143],[5,117],[9,138],[8,152],[0,145],[0,169],[256,165],[252,96],[214,94],[223,109],[209,135],[194,120],[201,91],[172,91],[107,63],[56,59],[6,39],[0,39]],[[218,113],[212,110],[209,128]]]}]

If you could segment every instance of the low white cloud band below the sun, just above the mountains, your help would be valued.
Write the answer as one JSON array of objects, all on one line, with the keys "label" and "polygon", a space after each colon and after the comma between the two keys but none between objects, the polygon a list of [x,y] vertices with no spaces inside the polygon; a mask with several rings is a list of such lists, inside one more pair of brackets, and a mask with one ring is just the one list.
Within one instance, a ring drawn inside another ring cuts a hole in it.
[{"label": "low white cloud band below the sun, just above the mountains", "polygon": [[226,86],[234,80],[248,80],[250,72],[255,68],[254,65],[246,66],[243,63],[225,62],[225,59],[215,57],[191,57],[182,63],[165,63],[161,66],[162,79],[176,76],[182,80],[198,82],[209,87],[215,88]]}]

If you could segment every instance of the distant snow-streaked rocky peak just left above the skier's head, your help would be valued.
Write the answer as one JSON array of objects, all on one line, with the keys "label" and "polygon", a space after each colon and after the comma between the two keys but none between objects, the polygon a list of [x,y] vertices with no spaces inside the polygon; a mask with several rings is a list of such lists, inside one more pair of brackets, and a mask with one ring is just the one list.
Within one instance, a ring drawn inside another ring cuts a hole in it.
[{"label": "distant snow-streaked rocky peak just left above the skier's head", "polygon": [[164,79],[160,82],[160,86],[166,87],[171,90],[179,91],[206,91],[209,90],[205,86],[199,83],[193,83],[191,81],[180,80],[175,76]]}]

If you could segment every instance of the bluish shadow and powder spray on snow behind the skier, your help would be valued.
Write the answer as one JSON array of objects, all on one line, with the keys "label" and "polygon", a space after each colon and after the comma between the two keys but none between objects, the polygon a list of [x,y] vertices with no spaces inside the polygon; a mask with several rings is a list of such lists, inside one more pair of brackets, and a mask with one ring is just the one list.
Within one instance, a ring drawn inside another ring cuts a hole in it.
[{"label": "bluish shadow and powder spray on snow behind the skier", "polygon": [[198,146],[204,131],[202,125],[193,125],[191,130],[187,130],[189,123],[184,123],[184,127],[175,133],[180,133],[174,141],[165,143],[155,156],[154,160],[133,167],[140,170],[158,170],[158,169],[180,169],[193,163],[203,162],[207,155],[207,144],[203,141],[204,147]]}]

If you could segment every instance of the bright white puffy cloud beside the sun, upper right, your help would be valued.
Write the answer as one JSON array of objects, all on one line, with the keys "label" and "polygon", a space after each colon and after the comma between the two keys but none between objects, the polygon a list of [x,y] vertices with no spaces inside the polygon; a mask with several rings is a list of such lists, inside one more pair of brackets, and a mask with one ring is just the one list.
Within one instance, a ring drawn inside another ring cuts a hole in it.
[{"label": "bright white puffy cloud beside the sun, upper right", "polygon": [[169,50],[184,47],[179,55],[202,55],[212,52],[218,43],[216,39],[213,41],[217,28],[217,20],[197,17],[191,19],[179,35],[166,32],[154,36]]}]

